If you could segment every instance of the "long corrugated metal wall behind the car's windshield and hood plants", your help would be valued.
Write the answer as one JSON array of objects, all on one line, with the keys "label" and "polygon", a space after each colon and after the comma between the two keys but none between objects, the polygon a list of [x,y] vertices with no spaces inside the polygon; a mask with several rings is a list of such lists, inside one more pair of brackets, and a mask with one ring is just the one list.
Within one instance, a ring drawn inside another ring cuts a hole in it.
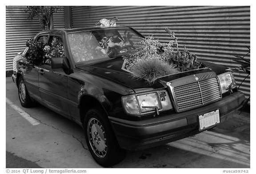
[{"label": "long corrugated metal wall behind the car's windshield and hood plants", "polygon": [[[234,55],[246,54],[250,46],[249,6],[80,6],[72,7],[72,27],[93,26],[114,16],[120,19],[117,24],[133,27],[144,36],[154,34],[161,42],[169,41],[164,29],[170,27],[180,48],[186,45],[198,58],[228,67],[239,66],[232,61]],[[235,74],[238,85],[246,75]],[[240,90],[248,97],[250,82]]]}]

